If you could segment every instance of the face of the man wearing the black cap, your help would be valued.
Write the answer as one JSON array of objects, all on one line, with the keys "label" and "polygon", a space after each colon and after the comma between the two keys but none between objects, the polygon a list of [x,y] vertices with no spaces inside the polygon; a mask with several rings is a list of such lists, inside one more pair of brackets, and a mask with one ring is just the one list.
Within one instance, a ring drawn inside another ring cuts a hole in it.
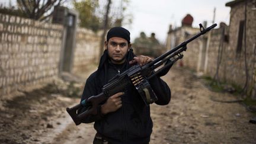
[{"label": "face of the man wearing the black cap", "polygon": [[125,62],[130,44],[121,37],[111,37],[108,41],[105,41],[105,47],[108,50],[111,62],[121,64]]}]

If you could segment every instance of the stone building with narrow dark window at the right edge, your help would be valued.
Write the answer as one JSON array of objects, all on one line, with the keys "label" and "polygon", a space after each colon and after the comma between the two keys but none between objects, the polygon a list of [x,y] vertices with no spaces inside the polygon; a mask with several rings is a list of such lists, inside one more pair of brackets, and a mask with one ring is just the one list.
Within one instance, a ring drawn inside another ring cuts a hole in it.
[{"label": "stone building with narrow dark window at the right edge", "polygon": [[[256,8],[253,1],[247,1],[246,20],[246,56],[245,56],[245,33],[242,38],[241,52],[237,52],[239,23],[245,20],[245,2],[231,5],[231,18],[229,25],[229,46],[225,53],[226,71],[232,73],[226,75],[229,82],[244,86],[246,79],[245,57],[248,68],[248,92],[255,93],[255,62],[256,62]],[[255,94],[254,94],[255,97]],[[255,97],[256,98],[256,97]]]}]

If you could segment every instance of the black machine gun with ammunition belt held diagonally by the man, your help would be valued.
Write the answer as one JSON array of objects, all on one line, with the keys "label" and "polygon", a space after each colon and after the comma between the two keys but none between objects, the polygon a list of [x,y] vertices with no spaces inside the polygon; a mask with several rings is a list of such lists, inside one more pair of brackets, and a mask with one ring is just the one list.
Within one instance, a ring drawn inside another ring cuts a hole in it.
[{"label": "black machine gun with ammunition belt held diagonally by the man", "polygon": [[[178,59],[183,58],[182,52],[187,50],[187,44],[194,39],[197,39],[197,37],[205,34],[207,31],[212,30],[212,28],[216,27],[217,24],[213,24],[205,29],[203,25],[199,25],[200,33],[196,34],[196,36],[193,36],[190,39],[184,41],[177,47],[174,47],[174,49],[169,50],[168,52],[157,57],[156,59],[152,60],[152,62],[149,62],[144,66],[132,66],[123,73],[118,74],[114,76],[114,78],[110,79],[108,84],[103,86],[102,92],[100,94],[91,96],[72,108],[66,108],[66,111],[68,111],[75,124],[80,124],[83,119],[91,114],[97,114],[98,105],[107,100],[107,98],[109,98],[111,95],[123,91],[123,89],[129,85],[133,85],[137,89],[146,105],[152,104],[158,100],[148,80],[156,75],[166,75],[171,66]],[[85,111],[78,113],[81,108],[85,108]]]}]

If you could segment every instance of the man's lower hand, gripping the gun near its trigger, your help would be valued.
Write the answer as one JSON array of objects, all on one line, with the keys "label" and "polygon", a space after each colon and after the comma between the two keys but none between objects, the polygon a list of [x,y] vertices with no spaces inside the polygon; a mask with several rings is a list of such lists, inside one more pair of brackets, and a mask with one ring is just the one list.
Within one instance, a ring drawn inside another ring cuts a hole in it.
[{"label": "man's lower hand, gripping the gun near its trigger", "polygon": [[123,95],[124,92],[119,92],[117,94],[112,95],[108,98],[105,104],[101,105],[101,113],[107,114],[113,111],[118,110],[121,107],[121,95]]}]

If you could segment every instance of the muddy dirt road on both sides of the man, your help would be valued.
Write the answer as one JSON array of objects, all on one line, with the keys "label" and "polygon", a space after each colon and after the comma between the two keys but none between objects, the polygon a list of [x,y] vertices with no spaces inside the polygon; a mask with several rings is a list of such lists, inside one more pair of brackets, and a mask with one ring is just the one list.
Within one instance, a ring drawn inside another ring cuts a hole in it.
[{"label": "muddy dirt road on both sides of the man", "polygon": [[[172,99],[165,106],[151,105],[151,143],[256,143],[256,124],[248,122],[255,114],[239,103],[210,99],[234,96],[210,91],[203,79],[181,68],[172,68],[163,79]],[[55,82],[2,98],[0,143],[91,143],[93,125],[75,126],[65,111],[79,102],[67,95],[79,95],[83,87],[84,82]]]}]

